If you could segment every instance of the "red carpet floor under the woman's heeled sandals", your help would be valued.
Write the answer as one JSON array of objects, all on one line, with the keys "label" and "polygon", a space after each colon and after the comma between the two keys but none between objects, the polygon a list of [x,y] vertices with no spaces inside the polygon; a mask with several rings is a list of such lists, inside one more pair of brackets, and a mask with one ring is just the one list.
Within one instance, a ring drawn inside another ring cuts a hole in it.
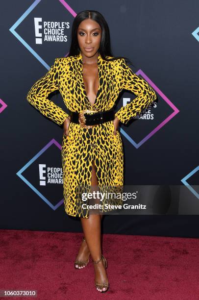
[{"label": "red carpet floor under the woman's heeled sandals", "polygon": [[110,288],[102,294],[94,287],[91,260],[74,268],[81,237],[0,230],[0,290],[35,289],[38,300],[199,299],[198,239],[104,234]]}]

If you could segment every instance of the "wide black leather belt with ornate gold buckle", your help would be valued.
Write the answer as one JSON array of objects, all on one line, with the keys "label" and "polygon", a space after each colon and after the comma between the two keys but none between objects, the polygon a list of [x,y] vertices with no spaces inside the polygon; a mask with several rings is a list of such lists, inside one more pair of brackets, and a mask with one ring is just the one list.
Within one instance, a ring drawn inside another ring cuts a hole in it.
[{"label": "wide black leather belt with ornate gold buckle", "polygon": [[70,115],[71,115],[71,122],[80,124],[82,127],[85,128],[91,128],[93,126],[115,119],[114,108],[111,108],[106,111],[85,109],[79,113],[72,111]]}]

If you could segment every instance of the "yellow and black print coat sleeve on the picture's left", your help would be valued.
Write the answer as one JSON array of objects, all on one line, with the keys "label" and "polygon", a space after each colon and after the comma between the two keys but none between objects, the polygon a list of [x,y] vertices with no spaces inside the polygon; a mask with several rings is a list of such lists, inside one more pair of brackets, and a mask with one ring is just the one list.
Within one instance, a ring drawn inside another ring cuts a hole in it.
[{"label": "yellow and black print coat sleeve on the picture's left", "polygon": [[55,58],[54,64],[46,75],[38,79],[27,94],[28,102],[39,110],[44,116],[61,125],[68,114],[47,97],[53,91],[59,90],[58,70],[59,58]]}]

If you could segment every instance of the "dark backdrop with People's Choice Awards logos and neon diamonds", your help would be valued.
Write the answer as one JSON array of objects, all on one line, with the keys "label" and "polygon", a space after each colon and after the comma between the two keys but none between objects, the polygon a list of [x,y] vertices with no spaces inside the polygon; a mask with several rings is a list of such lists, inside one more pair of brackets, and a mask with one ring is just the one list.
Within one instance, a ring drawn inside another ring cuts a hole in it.
[{"label": "dark backdrop with People's Choice Awards logos and neon diamonds", "polygon": [[[106,215],[102,230],[198,237],[199,2],[10,0],[0,9],[0,228],[81,231],[80,219],[64,210],[63,126],[26,96],[54,59],[67,55],[73,20],[90,9],[106,19],[113,55],[130,58],[157,95],[119,130],[124,184],[159,186],[161,193],[149,214]],[[116,111],[134,98],[123,91]],[[59,91],[50,100],[69,113]]]}]

